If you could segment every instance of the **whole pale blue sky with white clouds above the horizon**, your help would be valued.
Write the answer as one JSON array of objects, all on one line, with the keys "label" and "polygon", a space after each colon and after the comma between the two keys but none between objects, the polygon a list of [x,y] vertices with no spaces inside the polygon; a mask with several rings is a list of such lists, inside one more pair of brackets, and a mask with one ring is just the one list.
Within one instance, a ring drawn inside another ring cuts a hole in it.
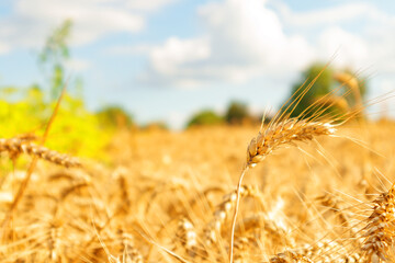
[{"label": "whole pale blue sky with white clouds above the horizon", "polygon": [[37,54],[66,19],[67,71],[88,106],[120,104],[142,124],[180,128],[233,100],[278,108],[306,66],[334,54],[369,77],[370,98],[395,88],[395,3],[384,0],[2,0],[0,85],[45,83]]}]

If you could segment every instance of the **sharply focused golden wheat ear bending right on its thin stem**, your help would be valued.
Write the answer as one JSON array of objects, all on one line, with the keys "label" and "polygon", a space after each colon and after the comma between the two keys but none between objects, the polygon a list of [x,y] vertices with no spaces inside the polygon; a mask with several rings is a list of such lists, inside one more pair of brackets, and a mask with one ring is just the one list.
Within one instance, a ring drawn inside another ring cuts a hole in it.
[{"label": "sharply focused golden wheat ear bending right on its thin stem", "polygon": [[250,168],[263,161],[272,151],[289,146],[295,146],[297,141],[308,141],[320,135],[334,135],[336,132],[331,122],[313,122],[297,118],[289,118],[272,123],[267,129],[259,132],[252,138],[247,148],[247,161],[237,184],[237,198],[232,222],[229,262],[233,263],[233,244],[235,240],[235,227],[240,201],[240,186],[242,179]]}]

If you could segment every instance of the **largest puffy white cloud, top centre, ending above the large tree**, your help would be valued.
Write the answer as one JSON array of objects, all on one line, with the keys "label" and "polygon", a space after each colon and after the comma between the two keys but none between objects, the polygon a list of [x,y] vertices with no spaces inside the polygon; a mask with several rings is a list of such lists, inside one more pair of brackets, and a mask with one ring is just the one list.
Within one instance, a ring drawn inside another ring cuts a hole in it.
[{"label": "largest puffy white cloud, top centre, ending above the large tree", "polygon": [[201,7],[198,15],[205,33],[198,38],[169,38],[151,48],[142,82],[179,87],[244,82],[303,67],[311,59],[306,41],[285,34],[262,0],[212,2]]}]

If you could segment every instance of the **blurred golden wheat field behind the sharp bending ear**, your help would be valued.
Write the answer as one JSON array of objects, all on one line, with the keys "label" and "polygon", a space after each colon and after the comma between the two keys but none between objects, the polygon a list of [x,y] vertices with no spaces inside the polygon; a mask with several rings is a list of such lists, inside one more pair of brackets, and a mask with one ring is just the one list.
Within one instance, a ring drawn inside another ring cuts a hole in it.
[{"label": "blurred golden wheat field behind the sharp bending ear", "polygon": [[[1,262],[228,262],[235,190],[258,130],[124,129],[110,161],[66,169],[40,159],[2,225]],[[234,262],[392,262],[394,216],[379,209],[393,211],[392,192],[376,198],[395,181],[394,132],[350,122],[250,169]],[[1,171],[2,220],[29,169],[20,158]]]}]

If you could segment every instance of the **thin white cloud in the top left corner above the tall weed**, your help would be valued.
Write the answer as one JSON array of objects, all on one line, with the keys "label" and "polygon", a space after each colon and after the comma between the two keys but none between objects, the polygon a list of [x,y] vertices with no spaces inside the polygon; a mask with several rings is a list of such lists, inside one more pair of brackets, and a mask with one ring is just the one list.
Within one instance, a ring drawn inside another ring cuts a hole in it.
[{"label": "thin white cloud in the top left corner above the tall weed", "polygon": [[138,33],[147,14],[172,0],[15,0],[0,19],[0,43],[11,50],[42,45],[48,32],[66,19],[74,22],[71,43],[83,45],[111,33]]}]

